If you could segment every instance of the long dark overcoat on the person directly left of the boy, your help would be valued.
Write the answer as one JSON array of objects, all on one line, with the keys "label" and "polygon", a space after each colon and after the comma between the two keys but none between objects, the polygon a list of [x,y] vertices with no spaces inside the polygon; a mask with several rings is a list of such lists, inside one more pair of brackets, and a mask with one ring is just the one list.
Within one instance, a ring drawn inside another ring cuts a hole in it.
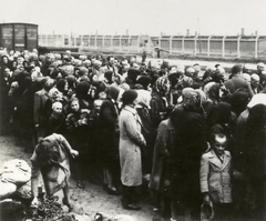
[{"label": "long dark overcoat on the person directly left of the boy", "polygon": [[176,108],[171,120],[175,128],[175,141],[168,160],[172,197],[196,202],[200,193],[200,162],[207,149],[205,119],[201,113]]}]

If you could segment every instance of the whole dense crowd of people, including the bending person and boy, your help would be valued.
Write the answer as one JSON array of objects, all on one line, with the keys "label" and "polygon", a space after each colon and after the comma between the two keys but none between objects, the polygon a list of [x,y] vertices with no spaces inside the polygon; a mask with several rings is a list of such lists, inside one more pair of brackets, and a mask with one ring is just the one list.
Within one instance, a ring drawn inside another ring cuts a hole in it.
[{"label": "whole dense crowd of people, including the bending person and boy", "polygon": [[124,209],[141,209],[135,189],[146,185],[154,213],[172,221],[208,207],[215,219],[265,219],[264,63],[203,70],[33,50],[2,51],[0,64],[1,134],[33,152],[34,202],[41,173],[71,210],[70,170],[79,188],[85,170]]}]

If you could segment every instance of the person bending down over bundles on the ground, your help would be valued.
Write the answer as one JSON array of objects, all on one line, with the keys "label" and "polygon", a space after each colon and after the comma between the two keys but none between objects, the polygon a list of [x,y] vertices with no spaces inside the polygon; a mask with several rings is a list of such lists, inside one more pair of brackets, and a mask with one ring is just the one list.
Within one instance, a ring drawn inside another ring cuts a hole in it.
[{"label": "person bending down over bundles on the ground", "polygon": [[31,157],[32,204],[38,204],[38,183],[41,173],[47,197],[52,198],[55,192],[62,189],[64,194],[63,204],[68,205],[70,211],[73,209],[69,200],[69,154],[75,158],[79,152],[71,148],[63,135],[57,133],[44,138],[35,147]]}]

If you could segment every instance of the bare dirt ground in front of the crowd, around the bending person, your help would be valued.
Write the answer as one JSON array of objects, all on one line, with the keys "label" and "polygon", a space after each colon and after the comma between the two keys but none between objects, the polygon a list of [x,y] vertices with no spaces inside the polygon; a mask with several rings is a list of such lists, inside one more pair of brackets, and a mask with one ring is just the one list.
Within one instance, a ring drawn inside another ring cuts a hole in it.
[{"label": "bare dirt ground in front of the crowd, around the bending person", "polygon": [[[11,159],[23,159],[30,164],[32,150],[21,147],[13,135],[0,137],[0,168]],[[62,197],[61,191],[58,193]],[[121,205],[121,195],[108,194],[101,185],[85,181],[85,189],[79,189],[71,179],[70,198],[76,208],[82,208],[84,212],[94,217],[101,212],[108,217],[116,214],[129,214],[137,221],[151,221],[153,217],[151,200],[149,195],[140,197],[141,211],[124,210]],[[0,211],[1,212],[1,211]]]}]

